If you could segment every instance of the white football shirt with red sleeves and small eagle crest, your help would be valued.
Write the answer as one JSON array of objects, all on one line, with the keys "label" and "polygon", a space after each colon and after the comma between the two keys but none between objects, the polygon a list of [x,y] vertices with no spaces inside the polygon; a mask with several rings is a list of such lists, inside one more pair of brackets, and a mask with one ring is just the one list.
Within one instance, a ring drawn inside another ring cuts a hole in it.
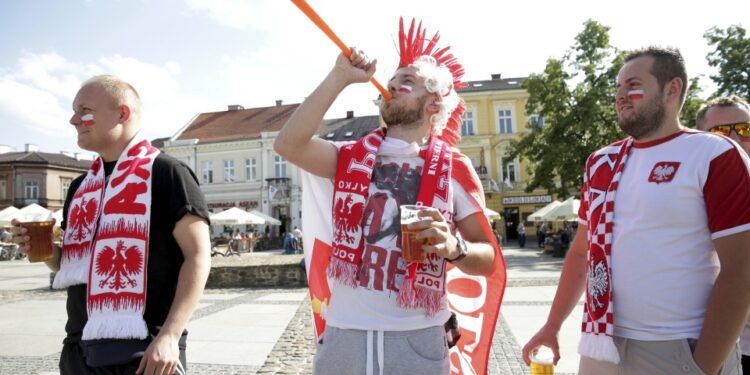
[{"label": "white football shirt with red sleeves and small eagle crest", "polygon": [[719,272],[712,240],[750,230],[747,186],[750,160],[726,138],[686,130],[634,144],[615,198],[616,336],[699,337]]}]

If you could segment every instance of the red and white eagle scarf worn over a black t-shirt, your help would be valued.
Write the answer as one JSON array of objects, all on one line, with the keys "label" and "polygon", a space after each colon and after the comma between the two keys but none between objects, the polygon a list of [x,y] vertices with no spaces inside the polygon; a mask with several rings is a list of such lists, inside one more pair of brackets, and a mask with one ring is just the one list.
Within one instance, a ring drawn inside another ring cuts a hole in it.
[{"label": "red and white eagle scarf worn over a black t-shirt", "polygon": [[88,285],[84,340],[148,335],[143,312],[158,154],[148,140],[134,137],[109,178],[101,158],[92,163],[70,202],[53,286]]}]

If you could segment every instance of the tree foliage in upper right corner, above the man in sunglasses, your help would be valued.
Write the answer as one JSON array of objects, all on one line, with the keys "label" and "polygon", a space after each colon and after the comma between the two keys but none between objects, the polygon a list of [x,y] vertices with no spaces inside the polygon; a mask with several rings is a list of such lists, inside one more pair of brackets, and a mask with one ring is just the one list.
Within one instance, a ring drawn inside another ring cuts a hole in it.
[{"label": "tree foliage in upper right corner, above the man in sunglasses", "polygon": [[742,26],[726,30],[713,27],[703,34],[715,50],[706,56],[708,64],[719,67],[719,75],[711,79],[719,86],[714,96],[739,95],[750,100],[750,38]]}]

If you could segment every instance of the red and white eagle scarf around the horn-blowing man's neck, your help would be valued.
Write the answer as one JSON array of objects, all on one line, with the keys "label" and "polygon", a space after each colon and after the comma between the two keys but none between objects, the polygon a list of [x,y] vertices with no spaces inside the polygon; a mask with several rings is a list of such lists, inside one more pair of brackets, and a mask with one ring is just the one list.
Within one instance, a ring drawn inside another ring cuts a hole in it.
[{"label": "red and white eagle scarf around the horn-blowing man's neck", "polygon": [[[352,288],[357,287],[357,271],[364,253],[362,217],[370,188],[378,148],[385,138],[380,128],[356,143],[339,150],[334,181],[333,253],[328,276]],[[422,155],[422,154],[421,154]],[[451,149],[437,137],[431,137],[422,156],[425,166],[417,193],[417,205],[439,210],[450,208]],[[410,263],[399,291],[403,308],[424,308],[428,316],[440,310],[445,295],[445,259],[427,254],[423,263]]]}]

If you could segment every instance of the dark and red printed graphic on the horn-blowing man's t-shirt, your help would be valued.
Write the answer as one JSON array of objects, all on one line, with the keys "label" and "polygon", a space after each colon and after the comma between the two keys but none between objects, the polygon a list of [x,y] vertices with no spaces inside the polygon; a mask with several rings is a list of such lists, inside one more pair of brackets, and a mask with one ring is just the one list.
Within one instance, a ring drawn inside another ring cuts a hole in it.
[{"label": "dark and red printed graphic on the horn-blowing man's t-shirt", "polygon": [[413,167],[408,162],[375,165],[373,187],[363,216],[365,253],[359,270],[361,287],[390,292],[401,289],[406,263],[401,259],[398,207],[416,202],[421,175],[422,166]]}]

